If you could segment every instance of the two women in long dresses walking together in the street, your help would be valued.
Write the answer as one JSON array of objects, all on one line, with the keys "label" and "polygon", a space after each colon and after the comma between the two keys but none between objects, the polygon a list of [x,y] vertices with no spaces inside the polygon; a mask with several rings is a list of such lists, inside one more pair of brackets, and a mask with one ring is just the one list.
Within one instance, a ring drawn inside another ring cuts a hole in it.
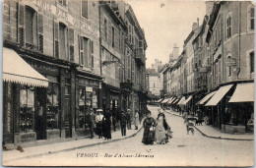
[{"label": "two women in long dresses walking together in the street", "polygon": [[154,119],[151,116],[151,111],[148,110],[143,127],[144,134],[142,142],[144,144],[154,144],[154,141],[158,144],[165,144],[168,142],[168,139],[172,138],[172,131],[166,123],[165,115],[161,109],[159,109],[157,119]]}]

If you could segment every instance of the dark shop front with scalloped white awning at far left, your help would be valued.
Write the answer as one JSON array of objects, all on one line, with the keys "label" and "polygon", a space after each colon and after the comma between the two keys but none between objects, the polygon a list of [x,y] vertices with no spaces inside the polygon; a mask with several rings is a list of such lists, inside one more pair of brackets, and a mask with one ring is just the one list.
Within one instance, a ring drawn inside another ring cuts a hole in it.
[{"label": "dark shop front with scalloped white awning at far left", "polygon": [[[7,55],[4,57],[4,91],[9,92],[9,97],[3,98],[9,103],[15,102],[12,107],[4,105],[4,110],[13,112],[14,143],[72,138],[75,64],[29,50],[4,48],[3,55]],[[8,73],[10,71],[13,72]],[[42,85],[41,79],[47,84]]]}]

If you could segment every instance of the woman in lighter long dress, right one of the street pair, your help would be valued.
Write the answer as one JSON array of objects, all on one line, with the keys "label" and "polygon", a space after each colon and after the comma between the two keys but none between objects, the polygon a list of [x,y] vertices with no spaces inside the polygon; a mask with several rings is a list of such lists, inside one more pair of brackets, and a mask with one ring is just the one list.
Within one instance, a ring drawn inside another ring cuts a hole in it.
[{"label": "woman in lighter long dress, right one of the street pair", "polygon": [[156,142],[158,144],[165,144],[167,142],[166,137],[166,130],[164,126],[166,127],[167,123],[165,121],[165,116],[163,113],[160,113],[157,118],[157,126],[156,126]]}]

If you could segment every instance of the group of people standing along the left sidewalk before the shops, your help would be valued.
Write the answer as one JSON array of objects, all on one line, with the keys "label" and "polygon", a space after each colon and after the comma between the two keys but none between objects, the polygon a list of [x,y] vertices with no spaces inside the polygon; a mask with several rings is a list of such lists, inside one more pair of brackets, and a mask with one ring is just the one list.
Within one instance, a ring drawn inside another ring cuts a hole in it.
[{"label": "group of people standing along the left sidewalk before the shops", "polygon": [[[139,110],[135,111],[134,115],[134,125],[135,130],[138,130],[139,125]],[[116,131],[116,124],[120,121],[121,135],[126,136],[126,128],[132,130],[132,114],[131,110],[127,111],[122,110],[120,114],[110,112],[110,109],[107,108],[104,111],[102,109],[97,109],[96,113],[91,108],[86,114],[85,124],[88,125],[90,129],[90,138],[93,139],[95,134],[98,136],[98,139],[104,138],[105,140],[111,140],[111,125],[113,131]]]}]

